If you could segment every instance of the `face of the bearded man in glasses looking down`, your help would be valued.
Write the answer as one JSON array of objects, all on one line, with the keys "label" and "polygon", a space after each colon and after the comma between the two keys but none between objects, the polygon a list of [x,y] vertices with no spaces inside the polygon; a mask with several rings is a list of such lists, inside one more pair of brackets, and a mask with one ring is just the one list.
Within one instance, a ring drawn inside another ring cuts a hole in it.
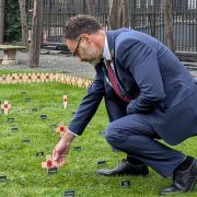
[{"label": "face of the bearded man in glasses looking down", "polygon": [[101,49],[95,46],[91,35],[81,35],[79,39],[66,39],[66,45],[81,61],[96,65],[101,60]]}]

